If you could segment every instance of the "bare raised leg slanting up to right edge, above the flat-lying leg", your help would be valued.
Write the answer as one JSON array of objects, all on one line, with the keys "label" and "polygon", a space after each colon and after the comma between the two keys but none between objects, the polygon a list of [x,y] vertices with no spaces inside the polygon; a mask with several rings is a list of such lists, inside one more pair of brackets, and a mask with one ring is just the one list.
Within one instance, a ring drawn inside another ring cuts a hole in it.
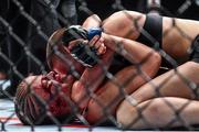
[{"label": "bare raised leg slanting up to right edge, above the flat-lying leg", "polygon": [[[179,75],[186,77],[188,81],[198,84],[199,77],[195,76],[199,74],[198,63],[188,62],[179,66],[176,70],[178,74],[175,73],[175,70],[170,70],[153,79],[150,82],[142,86],[138,90],[133,92],[130,97],[137,101],[138,106],[142,102],[156,97],[181,97],[187,99],[196,98],[197,95],[195,95],[193,90],[182,80]],[[157,87],[155,88],[154,86]],[[134,107],[129,105],[127,100],[124,100],[117,109],[117,120],[124,121],[126,119],[123,117],[130,117],[134,114],[134,111],[130,109],[134,109]],[[124,125],[126,125],[126,123]]]}]

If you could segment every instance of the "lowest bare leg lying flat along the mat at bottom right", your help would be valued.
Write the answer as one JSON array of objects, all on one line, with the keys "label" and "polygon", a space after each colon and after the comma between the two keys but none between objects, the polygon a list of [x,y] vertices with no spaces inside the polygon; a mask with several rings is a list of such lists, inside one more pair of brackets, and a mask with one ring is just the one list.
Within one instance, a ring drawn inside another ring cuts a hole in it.
[{"label": "lowest bare leg lying flat along the mat at bottom right", "polygon": [[[117,121],[123,128],[128,129],[190,127],[199,122],[199,101],[184,98],[155,98],[144,101],[136,107],[124,109],[124,111],[126,114],[122,111],[117,112]],[[176,111],[180,111],[179,117],[175,113]],[[143,117],[139,117],[139,113]],[[176,118],[178,119],[175,121]]]}]

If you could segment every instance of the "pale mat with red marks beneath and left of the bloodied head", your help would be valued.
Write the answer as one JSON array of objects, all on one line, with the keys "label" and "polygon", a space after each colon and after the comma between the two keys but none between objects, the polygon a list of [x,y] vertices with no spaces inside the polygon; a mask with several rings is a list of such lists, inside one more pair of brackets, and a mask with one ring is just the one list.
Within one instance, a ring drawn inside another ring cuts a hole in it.
[{"label": "pale mat with red marks beneath and left of the bloodied head", "polygon": [[[62,127],[62,131],[73,132],[73,131],[80,131],[80,132],[88,132],[91,131],[90,128],[86,125],[80,125],[80,124],[66,124]],[[19,119],[17,118],[14,113],[14,105],[10,100],[0,99],[0,132],[7,131],[7,132],[55,132],[59,131],[59,128],[56,125],[40,125],[34,127],[33,130],[31,127],[23,125]],[[114,127],[97,127],[93,128],[92,132],[121,132],[121,130],[114,128]]]}]

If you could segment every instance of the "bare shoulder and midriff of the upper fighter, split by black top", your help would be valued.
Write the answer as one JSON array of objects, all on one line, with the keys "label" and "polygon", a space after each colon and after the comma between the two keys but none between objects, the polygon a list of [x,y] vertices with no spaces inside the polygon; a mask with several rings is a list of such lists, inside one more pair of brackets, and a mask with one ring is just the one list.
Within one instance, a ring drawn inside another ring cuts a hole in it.
[{"label": "bare shoulder and midriff of the upper fighter, split by black top", "polygon": [[[103,26],[108,34],[136,40],[145,20],[146,14],[135,11],[118,11],[106,19]],[[188,36],[185,37],[181,33],[186,33]],[[163,50],[172,57],[188,56],[187,50],[198,33],[198,21],[163,16]]]}]

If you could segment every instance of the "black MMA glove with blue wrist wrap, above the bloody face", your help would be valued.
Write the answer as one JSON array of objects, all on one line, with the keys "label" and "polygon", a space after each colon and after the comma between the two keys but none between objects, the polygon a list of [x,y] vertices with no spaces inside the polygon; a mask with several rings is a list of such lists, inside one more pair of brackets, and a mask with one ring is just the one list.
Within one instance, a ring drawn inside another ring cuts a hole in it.
[{"label": "black MMA glove with blue wrist wrap, above the bloody face", "polygon": [[[72,25],[64,32],[62,42],[64,46],[69,46],[71,41],[77,38],[91,41],[95,35],[101,36],[101,34],[102,29],[100,28],[92,28],[86,31],[80,25]],[[85,44],[84,42],[77,43],[70,52],[73,58],[86,67],[93,67],[95,64],[97,64],[98,55],[96,48],[90,47],[90,45]]]}]

